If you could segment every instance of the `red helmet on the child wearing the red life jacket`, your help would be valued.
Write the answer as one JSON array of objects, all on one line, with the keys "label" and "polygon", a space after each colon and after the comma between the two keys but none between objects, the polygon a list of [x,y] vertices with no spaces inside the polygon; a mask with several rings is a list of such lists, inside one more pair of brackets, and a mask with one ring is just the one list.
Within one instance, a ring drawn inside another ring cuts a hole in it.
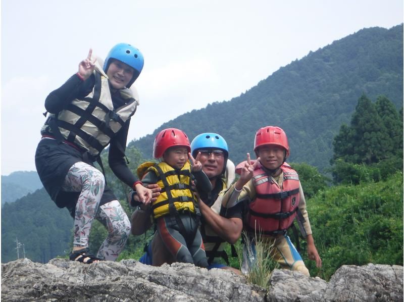
[{"label": "red helmet on the child wearing the red life jacket", "polygon": [[289,156],[289,143],[285,131],[279,127],[267,126],[257,131],[254,139],[254,151],[257,153],[257,148],[262,145],[278,145],[286,150],[286,157]]}]

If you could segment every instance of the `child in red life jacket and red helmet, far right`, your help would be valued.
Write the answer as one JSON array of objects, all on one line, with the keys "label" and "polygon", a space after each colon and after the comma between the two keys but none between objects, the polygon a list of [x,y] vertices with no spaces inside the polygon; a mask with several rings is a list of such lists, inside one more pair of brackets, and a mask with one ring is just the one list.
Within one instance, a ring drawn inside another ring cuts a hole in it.
[{"label": "child in red life jacket and red helmet, far right", "polygon": [[237,182],[223,197],[223,206],[230,208],[245,202],[247,213],[244,230],[251,248],[243,251],[243,273],[255,264],[254,239],[261,235],[266,244],[273,244],[269,253],[283,268],[310,276],[286,230],[297,218],[300,230],[307,239],[309,259],[321,267],[321,258],[314,244],[306,201],[297,175],[285,160],[289,156],[286,133],[279,127],[268,126],[257,131],[254,141],[257,161],[247,161],[236,167]]}]

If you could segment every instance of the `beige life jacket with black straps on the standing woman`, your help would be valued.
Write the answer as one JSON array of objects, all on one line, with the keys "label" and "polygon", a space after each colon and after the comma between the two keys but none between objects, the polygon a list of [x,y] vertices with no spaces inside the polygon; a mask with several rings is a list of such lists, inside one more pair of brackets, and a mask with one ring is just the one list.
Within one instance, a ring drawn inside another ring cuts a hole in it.
[{"label": "beige life jacket with black straps on the standing woman", "polygon": [[[41,129],[41,134],[51,133],[56,138],[71,142],[97,157],[111,138],[135,113],[138,105],[132,90],[120,89],[126,104],[114,109],[108,76],[95,63],[95,83],[92,91],[83,98],[76,98],[59,112],[51,114]],[[59,133],[60,132],[60,133]]]}]

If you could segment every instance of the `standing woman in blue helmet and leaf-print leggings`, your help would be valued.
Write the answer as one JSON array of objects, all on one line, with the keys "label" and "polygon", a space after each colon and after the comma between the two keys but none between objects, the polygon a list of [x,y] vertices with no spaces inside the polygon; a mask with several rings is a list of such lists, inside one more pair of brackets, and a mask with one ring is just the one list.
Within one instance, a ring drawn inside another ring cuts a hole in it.
[{"label": "standing woman in blue helmet and leaf-print leggings", "polygon": [[[143,56],[130,44],[115,45],[104,68],[90,49],[78,72],[46,97],[50,115],[41,129],[35,165],[52,200],[74,218],[72,261],[114,261],[130,232],[128,217],[93,165],[100,163],[106,146],[110,145],[108,161],[114,174],[136,190],[141,202],[150,202],[151,190],[142,186],[124,160],[130,118],[137,106],[137,96],[129,88],[142,68]],[[97,256],[88,249],[94,218],[108,230]]]}]

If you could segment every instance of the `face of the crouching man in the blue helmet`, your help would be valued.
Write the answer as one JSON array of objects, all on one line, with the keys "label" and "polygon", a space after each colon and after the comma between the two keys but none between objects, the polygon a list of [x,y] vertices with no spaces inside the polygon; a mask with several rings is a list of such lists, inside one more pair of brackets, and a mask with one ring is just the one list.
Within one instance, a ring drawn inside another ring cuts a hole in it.
[{"label": "face of the crouching man in the blue helmet", "polygon": [[[202,171],[209,179],[222,174],[224,168],[224,152],[219,149],[200,149],[199,162],[202,164]],[[196,152],[196,154],[197,154]]]}]

